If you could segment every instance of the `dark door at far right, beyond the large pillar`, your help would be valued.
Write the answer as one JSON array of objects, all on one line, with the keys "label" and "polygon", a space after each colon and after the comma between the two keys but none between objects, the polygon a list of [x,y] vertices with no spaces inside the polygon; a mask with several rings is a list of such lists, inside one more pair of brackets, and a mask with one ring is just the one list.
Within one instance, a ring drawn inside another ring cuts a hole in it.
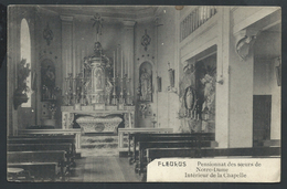
[{"label": "dark door at far right, beyond the large pillar", "polygon": [[272,95],[253,96],[253,146],[270,139]]}]

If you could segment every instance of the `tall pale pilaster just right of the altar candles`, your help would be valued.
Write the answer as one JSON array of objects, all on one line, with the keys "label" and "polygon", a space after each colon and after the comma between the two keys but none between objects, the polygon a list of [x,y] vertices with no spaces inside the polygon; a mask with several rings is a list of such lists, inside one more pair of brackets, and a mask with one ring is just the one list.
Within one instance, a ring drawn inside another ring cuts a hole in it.
[{"label": "tall pale pilaster just right of the altar candles", "polygon": [[131,78],[131,83],[129,84],[130,86],[132,86],[130,88],[130,86],[128,87],[130,91],[130,95],[135,97],[134,95],[134,62],[135,62],[135,57],[134,57],[134,43],[135,43],[135,23],[136,21],[123,21],[123,31],[124,31],[124,41],[123,41],[123,49],[124,49],[124,56],[125,56],[125,61],[129,60],[129,63],[125,64],[125,73],[128,74],[128,77]]}]

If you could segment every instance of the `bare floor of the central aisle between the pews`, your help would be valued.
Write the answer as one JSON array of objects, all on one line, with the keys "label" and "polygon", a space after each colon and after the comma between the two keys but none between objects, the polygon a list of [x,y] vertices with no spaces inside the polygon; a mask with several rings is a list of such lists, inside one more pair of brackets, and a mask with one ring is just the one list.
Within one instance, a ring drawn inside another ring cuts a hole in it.
[{"label": "bare floor of the central aisle between the pews", "polygon": [[71,182],[138,182],[134,166],[124,157],[83,157],[76,160]]}]

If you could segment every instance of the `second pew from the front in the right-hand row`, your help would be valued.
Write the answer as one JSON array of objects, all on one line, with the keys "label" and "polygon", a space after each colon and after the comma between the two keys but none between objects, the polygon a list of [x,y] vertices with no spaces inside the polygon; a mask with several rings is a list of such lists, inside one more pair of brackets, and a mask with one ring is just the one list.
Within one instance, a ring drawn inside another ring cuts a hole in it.
[{"label": "second pew from the front in the right-hand row", "polygon": [[135,166],[135,171],[142,172],[145,150],[148,148],[201,148],[211,147],[211,140],[171,140],[171,141],[139,141],[139,160]]}]

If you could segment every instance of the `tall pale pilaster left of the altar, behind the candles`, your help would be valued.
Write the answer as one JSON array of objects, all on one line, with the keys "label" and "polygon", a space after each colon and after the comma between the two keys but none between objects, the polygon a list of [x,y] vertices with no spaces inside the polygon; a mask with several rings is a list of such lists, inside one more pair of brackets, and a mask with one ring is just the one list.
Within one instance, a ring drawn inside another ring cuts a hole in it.
[{"label": "tall pale pilaster left of the altar, behind the candles", "polygon": [[60,15],[60,18],[62,21],[62,92],[65,93],[65,77],[68,73],[73,73],[73,17]]}]

